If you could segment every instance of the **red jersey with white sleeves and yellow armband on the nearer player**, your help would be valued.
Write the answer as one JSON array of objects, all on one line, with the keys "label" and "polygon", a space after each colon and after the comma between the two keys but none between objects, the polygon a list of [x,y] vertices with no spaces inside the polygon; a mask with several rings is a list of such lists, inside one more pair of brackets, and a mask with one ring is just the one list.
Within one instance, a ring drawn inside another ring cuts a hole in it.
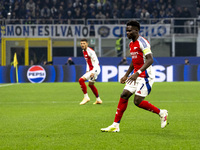
[{"label": "red jersey with white sleeves and yellow armband on the nearer player", "polygon": [[[145,63],[145,55],[152,53],[151,46],[149,42],[142,36],[133,42],[131,41],[129,44],[130,47],[130,54],[132,57],[132,62],[134,66],[134,73],[138,71]],[[152,65],[149,66],[145,71],[143,71],[139,77],[142,78],[155,78],[155,73],[152,68]]]}]

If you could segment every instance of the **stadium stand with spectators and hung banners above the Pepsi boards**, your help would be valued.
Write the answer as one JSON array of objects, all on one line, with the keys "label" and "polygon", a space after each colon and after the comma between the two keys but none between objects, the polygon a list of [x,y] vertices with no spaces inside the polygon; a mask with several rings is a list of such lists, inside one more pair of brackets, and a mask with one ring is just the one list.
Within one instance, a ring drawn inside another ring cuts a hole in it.
[{"label": "stadium stand with spectators and hung banners above the Pepsi boards", "polygon": [[[141,23],[154,64],[184,65],[185,59],[200,63],[199,0],[1,0],[1,66],[10,66],[14,53],[21,66],[64,65],[69,57],[75,65],[85,65],[81,38],[89,40],[101,65],[116,66],[122,57],[130,62],[125,35],[130,19]],[[189,70],[197,72],[189,80],[199,80],[199,67]]]}]

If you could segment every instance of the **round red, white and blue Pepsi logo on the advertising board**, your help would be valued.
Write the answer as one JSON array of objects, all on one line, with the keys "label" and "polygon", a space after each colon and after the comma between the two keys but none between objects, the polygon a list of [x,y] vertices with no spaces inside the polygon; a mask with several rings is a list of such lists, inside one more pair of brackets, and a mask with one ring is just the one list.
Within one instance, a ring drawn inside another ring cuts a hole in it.
[{"label": "round red, white and blue Pepsi logo on the advertising board", "polygon": [[46,78],[46,71],[41,66],[32,66],[27,71],[27,78],[31,83],[41,83]]}]

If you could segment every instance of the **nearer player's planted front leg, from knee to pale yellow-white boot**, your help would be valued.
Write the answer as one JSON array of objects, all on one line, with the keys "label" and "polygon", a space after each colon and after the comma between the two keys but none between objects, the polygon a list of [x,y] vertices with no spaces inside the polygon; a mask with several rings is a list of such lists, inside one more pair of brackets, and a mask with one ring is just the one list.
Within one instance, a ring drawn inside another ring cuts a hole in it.
[{"label": "nearer player's planted front leg, from knee to pale yellow-white boot", "polygon": [[102,128],[101,131],[102,132],[119,132],[119,124],[121,121],[121,118],[124,114],[124,111],[127,108],[128,105],[128,99],[131,97],[132,93],[126,89],[123,90],[118,106],[117,106],[117,111],[115,114],[115,119],[114,122],[111,126],[107,127],[107,128]]}]

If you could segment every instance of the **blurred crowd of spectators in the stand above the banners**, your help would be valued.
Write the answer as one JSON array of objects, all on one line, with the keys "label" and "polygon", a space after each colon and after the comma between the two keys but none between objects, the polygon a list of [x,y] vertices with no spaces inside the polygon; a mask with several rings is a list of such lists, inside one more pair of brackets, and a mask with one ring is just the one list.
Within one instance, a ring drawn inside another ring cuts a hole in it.
[{"label": "blurred crowd of spectators in the stand above the banners", "polygon": [[[175,7],[175,0],[1,0],[0,19],[11,23],[70,24],[73,19],[147,19],[192,17],[185,8]],[[23,19],[23,22],[20,22]]]}]

